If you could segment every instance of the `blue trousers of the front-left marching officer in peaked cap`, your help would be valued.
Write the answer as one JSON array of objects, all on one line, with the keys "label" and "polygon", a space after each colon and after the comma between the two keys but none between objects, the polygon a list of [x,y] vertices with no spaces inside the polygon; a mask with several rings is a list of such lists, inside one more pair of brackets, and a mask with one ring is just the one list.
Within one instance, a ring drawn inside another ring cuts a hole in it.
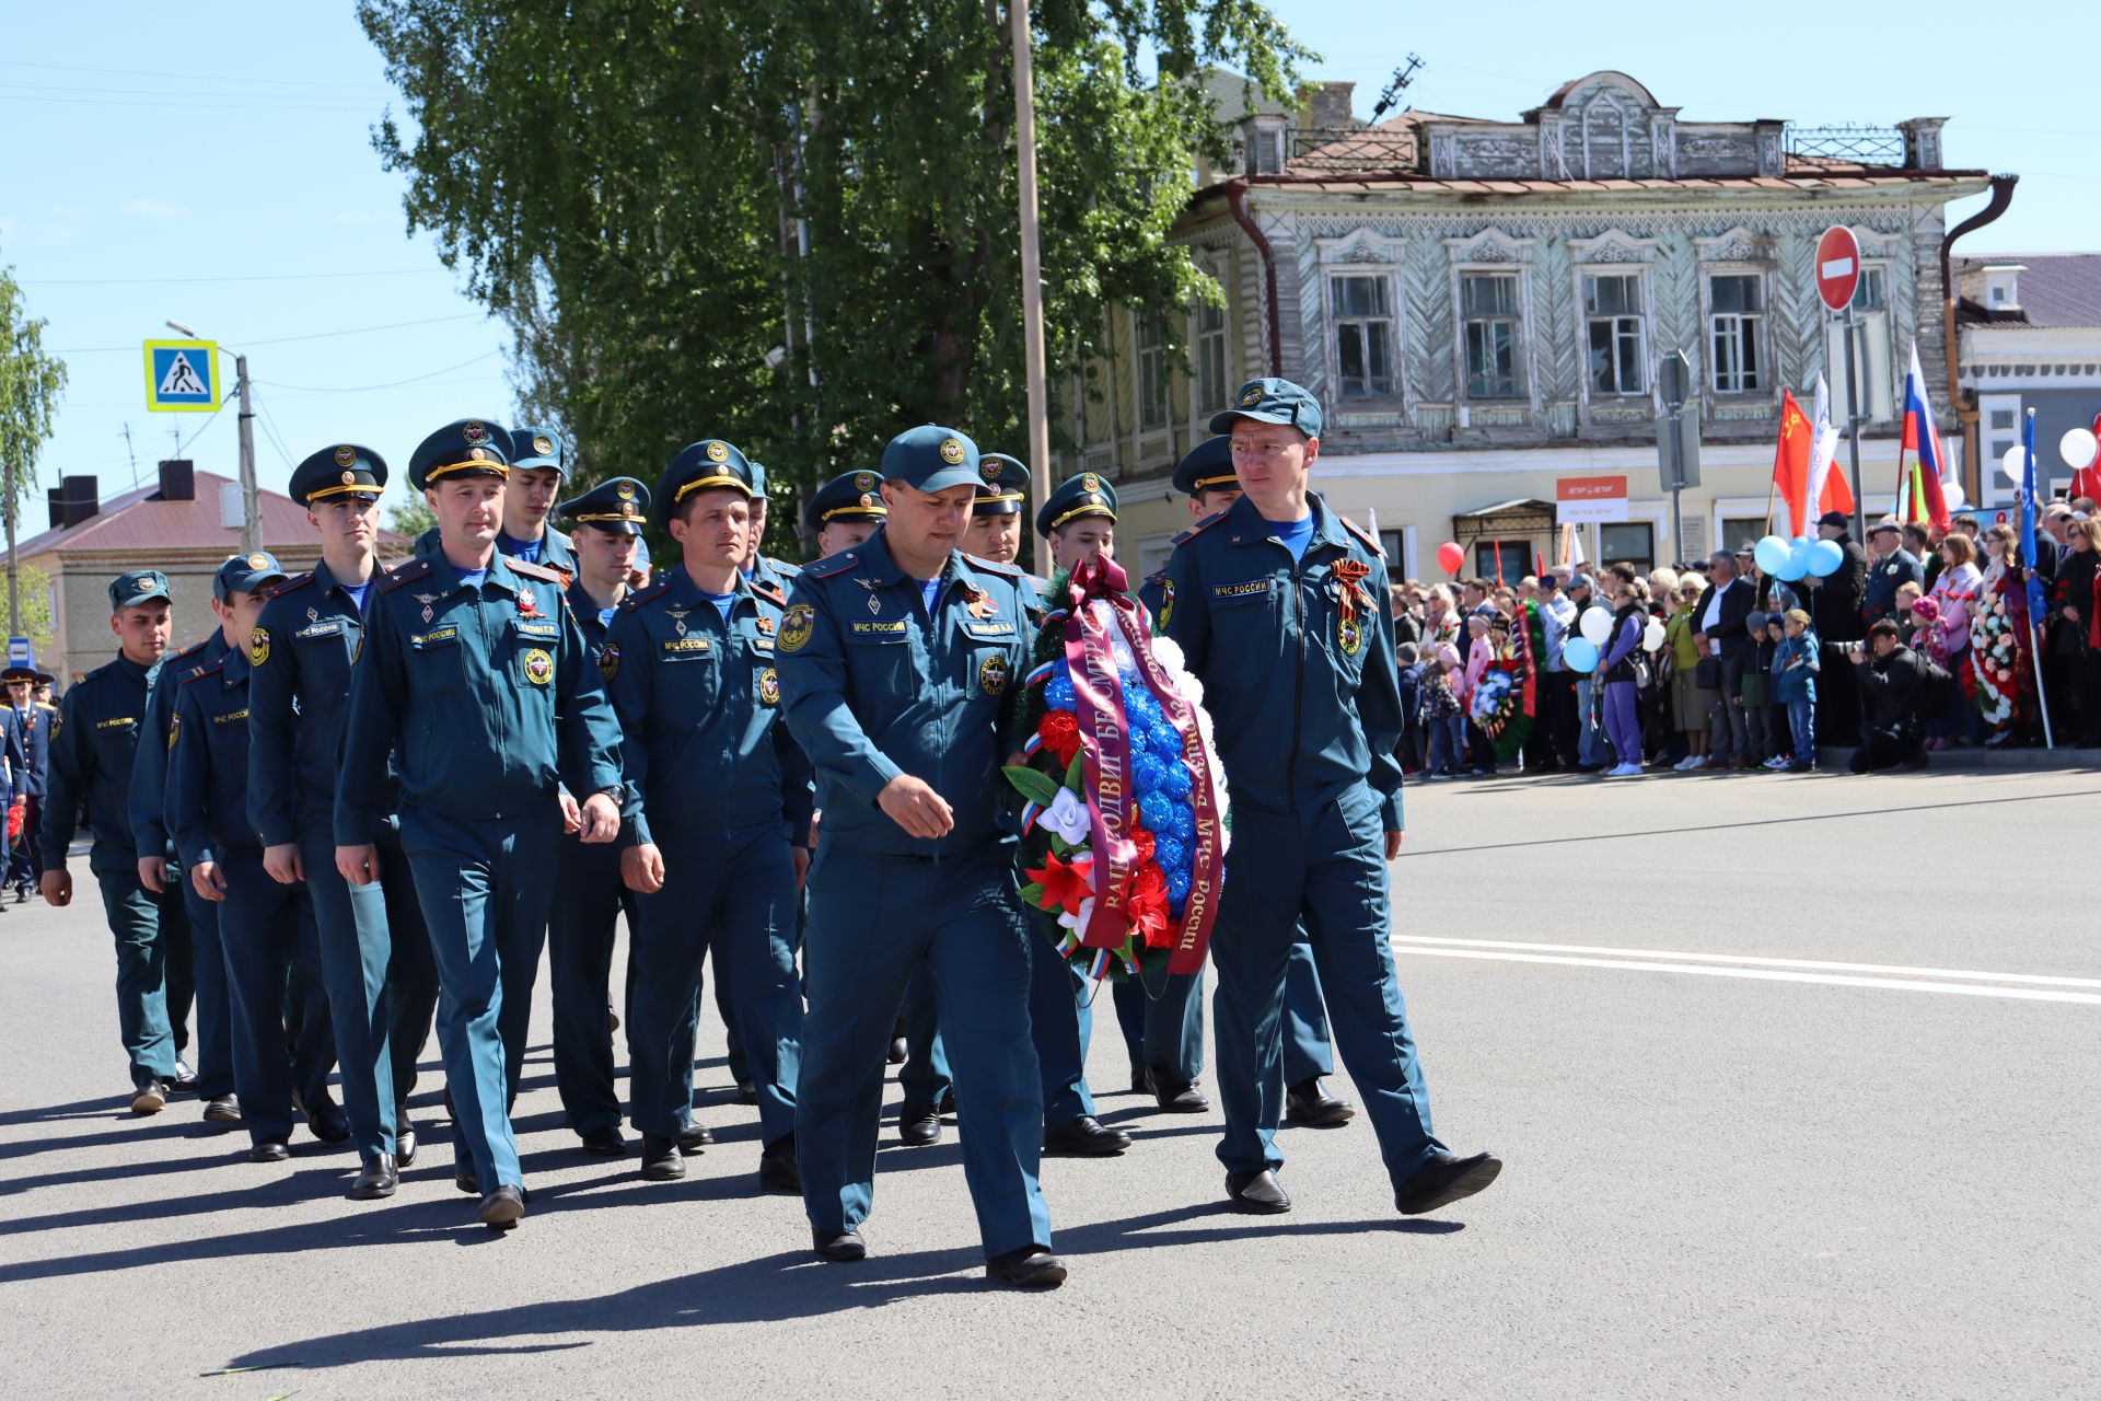
[{"label": "blue trousers of the front-left marching officer in peaked cap", "polygon": [[401,809],[401,851],[437,962],[454,1170],[473,1170],[483,1193],[523,1187],[511,1101],[525,1061],[559,842],[553,794],[542,813],[477,821]]}]

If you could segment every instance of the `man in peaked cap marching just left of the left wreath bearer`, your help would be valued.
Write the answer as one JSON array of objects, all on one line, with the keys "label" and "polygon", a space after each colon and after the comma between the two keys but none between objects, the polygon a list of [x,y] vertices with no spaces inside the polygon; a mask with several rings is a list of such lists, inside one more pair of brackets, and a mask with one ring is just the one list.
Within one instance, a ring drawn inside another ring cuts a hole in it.
[{"label": "man in peaked cap marching just left of the left wreath bearer", "polygon": [[683,559],[620,607],[607,643],[639,807],[622,870],[643,893],[628,1088],[643,1176],[685,1176],[693,1008],[712,949],[758,1099],[758,1183],[798,1191],[796,888],[813,792],[809,760],[779,720],[775,645],[788,599],[742,573],[752,496],[731,443],[704,439],[672,458],[651,500]]}]

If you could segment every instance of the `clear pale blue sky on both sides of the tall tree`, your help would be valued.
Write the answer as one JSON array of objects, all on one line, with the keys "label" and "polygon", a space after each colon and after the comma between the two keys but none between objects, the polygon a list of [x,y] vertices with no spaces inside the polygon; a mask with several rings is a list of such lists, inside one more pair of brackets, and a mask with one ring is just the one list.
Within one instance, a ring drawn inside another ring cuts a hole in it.
[{"label": "clear pale blue sky on both sides of the tall tree", "polygon": [[[1611,23],[1530,0],[1275,8],[1326,55],[1309,78],[1357,84],[1359,118],[1408,53],[1427,67],[1403,103],[1483,118],[1601,67],[1687,120],[1946,116],[1952,166],[2021,174],[2013,210],[1964,252],[2101,248],[2090,174],[2076,174],[2101,134],[2086,6],[1792,6],[1784,25],[1696,6],[1656,11],[1668,23],[1632,6]],[[511,414],[506,336],[431,242],[405,235],[401,176],[372,153],[391,97],[347,2],[0,8],[0,265],[71,370],[40,485],[67,471],[97,475],[105,496],[126,489],[132,460],[149,479],[170,454],[170,428],[200,466],[233,475],[231,410],[206,424],[143,405],[139,342],[170,336],[168,317],[250,351],[269,487],[334,441],[405,464],[441,422]],[[40,523],[32,508],[25,527]]]}]

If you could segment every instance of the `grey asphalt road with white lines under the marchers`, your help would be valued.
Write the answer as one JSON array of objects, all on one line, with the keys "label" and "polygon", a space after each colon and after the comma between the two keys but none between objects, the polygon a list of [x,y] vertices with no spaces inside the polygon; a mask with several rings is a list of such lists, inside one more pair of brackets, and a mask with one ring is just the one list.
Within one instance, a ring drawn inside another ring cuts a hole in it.
[{"label": "grey asphalt road with white lines under the marchers", "polygon": [[721,1143],[656,1185],[574,1151],[542,1006],[506,1237],[452,1189],[435,1075],[382,1204],[305,1134],[256,1166],[193,1101],[132,1120],[82,870],[74,909],[0,916],[0,1367],[223,1401],[2101,1395],[2097,830],[2090,771],[1412,790],[1401,983],[1439,1134],[1502,1180],[1401,1220],[1359,1120],[1286,1132],[1290,1216],[1227,1214],[1216,1113],[1141,1113],[1105,1017],[1139,1143],[1044,1166],[1046,1296],[981,1283],[954,1128],[887,1126],[872,1258],[813,1262],[712,1015]]}]

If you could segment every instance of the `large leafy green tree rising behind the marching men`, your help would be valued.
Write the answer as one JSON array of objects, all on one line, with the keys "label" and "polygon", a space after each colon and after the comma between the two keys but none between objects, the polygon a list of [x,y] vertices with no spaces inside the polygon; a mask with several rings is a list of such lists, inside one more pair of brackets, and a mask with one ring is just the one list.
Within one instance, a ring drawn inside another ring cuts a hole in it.
[{"label": "large leafy green tree rising behind the marching men", "polygon": [[[513,328],[521,397],[569,428],[580,479],[647,479],[702,435],[800,485],[914,422],[1021,445],[998,0],[361,0],[359,19],[414,120],[374,132],[410,229]],[[1057,391],[1105,307],[1216,296],[1168,242],[1191,153],[1227,151],[1206,71],[1284,95],[1309,55],[1256,0],[1038,0],[1032,23]]]}]

